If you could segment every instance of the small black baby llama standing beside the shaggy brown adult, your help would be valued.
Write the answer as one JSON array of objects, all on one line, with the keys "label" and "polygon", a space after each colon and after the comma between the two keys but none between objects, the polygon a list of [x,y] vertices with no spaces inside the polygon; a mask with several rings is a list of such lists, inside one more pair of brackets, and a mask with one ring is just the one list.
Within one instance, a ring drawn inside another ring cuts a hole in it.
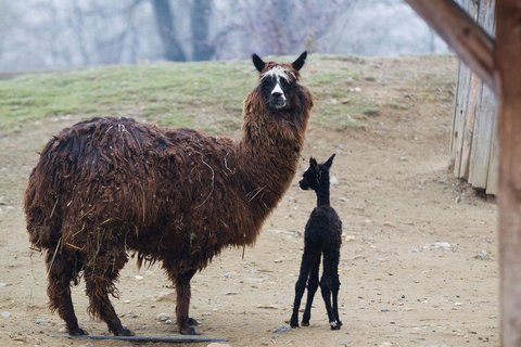
[{"label": "small black baby llama standing beside the shaggy brown adult", "polygon": [[[342,244],[342,221],[329,203],[329,169],[333,164],[334,154],[323,164],[309,159],[309,168],[300,182],[301,189],[313,189],[317,194],[317,207],[312,211],[304,232],[304,254],[302,255],[301,273],[295,284],[295,300],[290,324],[298,326],[298,309],[307,282],[307,301],[302,318],[302,325],[309,325],[312,305],[317,292],[318,269],[320,256],[323,256],[320,292],[322,293],[329,324],[332,330],[339,330],[342,322],[339,319],[339,260]],[[332,307],[331,307],[332,299]]]}]

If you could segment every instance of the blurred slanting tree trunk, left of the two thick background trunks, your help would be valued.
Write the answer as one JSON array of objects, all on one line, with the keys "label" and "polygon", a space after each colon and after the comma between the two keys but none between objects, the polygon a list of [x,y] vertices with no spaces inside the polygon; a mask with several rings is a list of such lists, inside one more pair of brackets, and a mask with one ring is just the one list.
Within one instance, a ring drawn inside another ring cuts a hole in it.
[{"label": "blurred slanting tree trunk, left of the two thick background trunks", "polygon": [[176,18],[169,0],[152,0],[157,31],[165,50],[167,61],[183,62],[187,60],[176,35]]}]

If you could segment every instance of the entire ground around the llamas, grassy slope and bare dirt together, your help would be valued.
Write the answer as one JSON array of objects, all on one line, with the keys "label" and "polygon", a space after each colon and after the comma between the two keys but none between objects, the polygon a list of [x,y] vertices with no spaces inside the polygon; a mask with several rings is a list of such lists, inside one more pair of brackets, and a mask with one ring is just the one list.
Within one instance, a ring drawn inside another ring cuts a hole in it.
[{"label": "entire ground around the llamas, grassy slope and bare dirt together", "polygon": [[[447,170],[456,72],[452,56],[308,59],[302,83],[315,108],[301,169],[310,155],[336,153],[331,202],[344,223],[344,325],[328,329],[317,294],[309,327],[280,329],[291,316],[302,231],[315,204],[295,177],[244,257],[229,249],[194,277],[191,314],[205,335],[231,346],[499,345],[496,206]],[[22,198],[48,139],[98,115],[238,138],[242,100],[255,83],[253,66],[242,61],[0,78],[2,345],[106,345],[56,337],[62,322],[46,306],[42,255],[29,249]],[[130,260],[118,288],[124,324],[139,335],[175,332],[156,320],[175,312],[158,266],[138,271]],[[80,324],[104,334],[105,325],[87,317],[82,284],[73,292]]]}]

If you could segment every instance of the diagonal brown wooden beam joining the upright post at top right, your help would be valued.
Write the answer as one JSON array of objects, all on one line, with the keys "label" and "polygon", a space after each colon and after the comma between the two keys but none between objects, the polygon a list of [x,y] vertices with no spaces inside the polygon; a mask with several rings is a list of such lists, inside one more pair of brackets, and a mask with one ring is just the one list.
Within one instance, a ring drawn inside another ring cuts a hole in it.
[{"label": "diagonal brown wooden beam joining the upright post at top right", "polygon": [[495,90],[493,39],[453,0],[405,0]]}]

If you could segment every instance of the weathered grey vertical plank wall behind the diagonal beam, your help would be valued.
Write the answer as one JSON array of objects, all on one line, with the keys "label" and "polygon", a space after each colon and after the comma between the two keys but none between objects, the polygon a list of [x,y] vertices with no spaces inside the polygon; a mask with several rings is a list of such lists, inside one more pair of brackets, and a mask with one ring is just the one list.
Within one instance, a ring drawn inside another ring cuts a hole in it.
[{"label": "weathered grey vertical plank wall behind the diagonal beam", "polygon": [[[466,11],[494,34],[495,0],[463,0]],[[459,63],[454,107],[450,162],[454,175],[487,194],[497,192],[495,98],[492,90],[463,63]]]}]

